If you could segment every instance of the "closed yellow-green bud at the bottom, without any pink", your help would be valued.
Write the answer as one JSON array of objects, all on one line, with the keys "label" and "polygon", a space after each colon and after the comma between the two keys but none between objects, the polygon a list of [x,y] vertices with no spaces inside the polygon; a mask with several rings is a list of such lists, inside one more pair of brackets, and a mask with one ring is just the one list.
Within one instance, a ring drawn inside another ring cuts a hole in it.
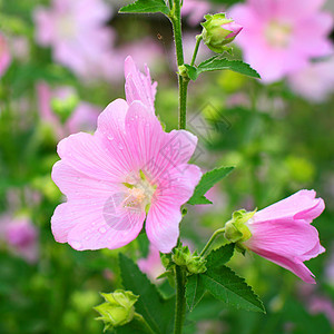
[{"label": "closed yellow-green bud at the bottom, without any pink", "polygon": [[106,303],[95,307],[101,315],[97,320],[105,323],[105,330],[110,327],[124,326],[131,322],[135,315],[135,303],[139,296],[130,291],[117,289],[110,294],[101,294]]}]

